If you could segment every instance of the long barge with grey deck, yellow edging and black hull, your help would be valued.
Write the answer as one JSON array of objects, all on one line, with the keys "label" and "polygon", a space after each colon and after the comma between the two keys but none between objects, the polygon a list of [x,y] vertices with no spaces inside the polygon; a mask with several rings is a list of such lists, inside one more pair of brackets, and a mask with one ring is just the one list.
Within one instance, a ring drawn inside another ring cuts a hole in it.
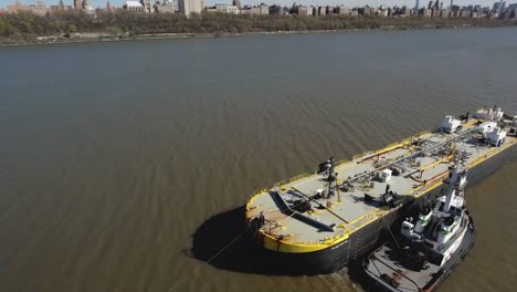
[{"label": "long barge with grey deck, yellow edging and black hull", "polygon": [[[263,189],[246,204],[253,239],[276,268],[331,273],[383,243],[398,218],[434,201],[461,152],[472,182],[517,157],[517,116],[498,107],[446,116],[441,127],[350,161],[334,158],[316,174]],[[399,222],[400,223],[400,222]]]}]

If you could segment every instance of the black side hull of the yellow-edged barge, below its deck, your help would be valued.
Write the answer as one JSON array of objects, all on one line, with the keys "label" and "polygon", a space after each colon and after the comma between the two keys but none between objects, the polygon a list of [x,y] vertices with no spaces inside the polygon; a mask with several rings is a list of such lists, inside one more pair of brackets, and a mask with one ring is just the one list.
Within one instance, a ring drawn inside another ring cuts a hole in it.
[{"label": "black side hull of the yellow-edged barge, below its deck", "polygon": [[[510,147],[488,160],[481,163],[469,169],[467,187],[490,176],[503,165],[516,158],[517,147]],[[275,268],[288,269],[289,274],[310,275],[336,272],[349,264],[360,262],[362,255],[380,247],[391,237],[387,227],[393,228],[400,225],[403,218],[416,215],[422,206],[434,201],[442,189],[443,186],[440,186],[430,190],[413,202],[407,204],[381,219],[351,233],[348,240],[330,246],[324,250],[306,253],[286,253],[264,249],[265,255],[272,260],[272,264],[274,264]]]}]

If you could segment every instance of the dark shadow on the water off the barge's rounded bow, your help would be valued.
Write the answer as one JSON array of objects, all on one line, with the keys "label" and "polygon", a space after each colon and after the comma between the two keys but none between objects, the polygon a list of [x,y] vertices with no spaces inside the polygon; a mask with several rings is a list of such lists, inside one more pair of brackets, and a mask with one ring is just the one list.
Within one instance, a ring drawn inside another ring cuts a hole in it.
[{"label": "dark shadow on the water off the barge's rounded bow", "polygon": [[273,253],[254,242],[253,232],[246,229],[244,218],[245,206],[209,218],[193,233],[189,255],[235,272],[300,275],[288,262],[278,261]]}]

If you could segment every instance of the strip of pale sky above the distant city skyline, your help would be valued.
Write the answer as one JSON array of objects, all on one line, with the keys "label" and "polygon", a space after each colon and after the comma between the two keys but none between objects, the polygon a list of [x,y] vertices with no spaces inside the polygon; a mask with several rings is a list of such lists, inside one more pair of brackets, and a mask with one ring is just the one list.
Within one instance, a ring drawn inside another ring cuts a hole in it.
[{"label": "strip of pale sky above the distant city skyline", "polygon": [[[6,8],[7,6],[13,3],[15,0],[0,0],[0,8]],[[35,3],[36,0],[21,0],[22,3],[24,4],[31,4]],[[94,8],[97,7],[106,7],[106,1],[107,0],[91,0],[92,6]],[[161,1],[161,0],[160,0]],[[449,6],[451,2],[450,0],[441,0],[444,2],[444,6]],[[46,6],[51,4],[57,4],[60,0],[43,0],[43,2]],[[63,0],[65,4],[73,4],[73,0]],[[125,0],[110,0],[110,3],[114,4],[115,7],[122,7]],[[215,3],[231,3],[231,0],[204,0],[207,6],[215,4]],[[261,2],[264,2],[266,4],[282,4],[282,6],[292,6],[293,2],[296,2],[298,4],[314,4],[314,6],[347,6],[347,7],[356,7],[356,6],[373,6],[373,7],[379,7],[381,4],[384,6],[409,6],[413,7],[415,3],[415,0],[241,0],[242,4],[260,4]],[[424,2],[429,2],[428,0],[420,0],[420,6],[423,6]],[[483,7],[488,6],[492,7],[494,4],[495,0],[454,0],[454,4],[458,6],[467,6],[467,4],[481,4]],[[506,3],[516,3],[516,1],[513,0],[507,0]]]}]

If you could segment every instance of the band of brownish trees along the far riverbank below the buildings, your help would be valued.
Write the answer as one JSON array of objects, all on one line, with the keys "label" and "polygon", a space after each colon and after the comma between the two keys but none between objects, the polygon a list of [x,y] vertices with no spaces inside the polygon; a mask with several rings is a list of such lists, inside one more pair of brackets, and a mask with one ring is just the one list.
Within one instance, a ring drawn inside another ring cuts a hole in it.
[{"label": "band of brownish trees along the far riverbank below the buildings", "polygon": [[231,35],[304,31],[407,30],[421,28],[517,27],[515,20],[472,18],[297,17],[201,13],[105,13],[91,18],[81,12],[36,15],[0,14],[0,44],[138,39],[152,35]]}]

